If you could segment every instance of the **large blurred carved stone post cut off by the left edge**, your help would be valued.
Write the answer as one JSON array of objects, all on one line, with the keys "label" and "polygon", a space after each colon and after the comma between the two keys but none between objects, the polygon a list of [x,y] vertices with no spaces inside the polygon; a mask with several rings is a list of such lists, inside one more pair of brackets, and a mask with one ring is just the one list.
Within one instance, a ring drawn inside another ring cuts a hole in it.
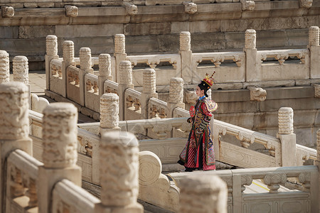
[{"label": "large blurred carved stone post cut off by the left edge", "polygon": [[[0,84],[0,207],[4,207],[6,186],[5,162],[11,151],[21,149],[32,155],[32,140],[29,138],[29,91],[22,82]],[[1,211],[2,212],[2,211]]]}]

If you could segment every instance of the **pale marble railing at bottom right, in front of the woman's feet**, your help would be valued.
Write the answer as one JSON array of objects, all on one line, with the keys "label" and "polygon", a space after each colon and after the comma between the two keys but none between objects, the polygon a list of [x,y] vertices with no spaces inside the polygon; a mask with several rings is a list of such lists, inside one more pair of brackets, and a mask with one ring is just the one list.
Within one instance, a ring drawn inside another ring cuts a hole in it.
[{"label": "pale marble railing at bottom right, in front of the woman's feet", "polygon": [[[211,173],[211,174],[209,174]],[[218,175],[228,186],[228,212],[318,212],[318,168],[316,166],[298,166],[284,168],[251,168],[238,170],[220,170],[207,173],[170,173],[176,184],[180,180],[196,175]],[[279,191],[280,185],[296,179],[299,187],[295,190]],[[255,192],[246,192],[248,186],[257,185],[253,180],[262,180],[267,187],[258,187]],[[264,189],[263,189],[264,188]],[[268,189],[267,189],[268,188]]]}]

